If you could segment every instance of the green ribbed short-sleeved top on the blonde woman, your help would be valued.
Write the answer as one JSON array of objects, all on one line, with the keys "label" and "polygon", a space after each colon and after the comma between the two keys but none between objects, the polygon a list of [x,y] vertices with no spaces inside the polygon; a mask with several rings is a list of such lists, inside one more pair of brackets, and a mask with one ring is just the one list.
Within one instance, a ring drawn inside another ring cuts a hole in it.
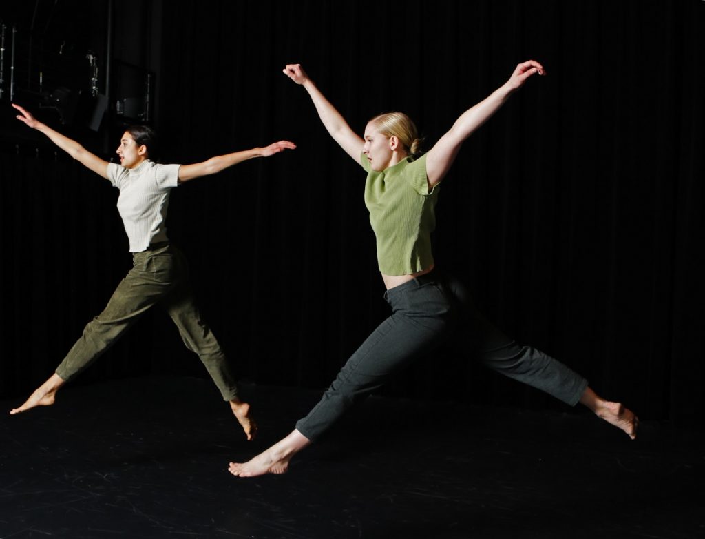
[{"label": "green ribbed short-sleeved top on the blonde woman", "polygon": [[439,186],[429,192],[426,155],[403,161],[376,172],[362,154],[367,171],[364,203],[377,240],[379,271],[385,275],[408,275],[434,263],[431,232],[436,228]]}]

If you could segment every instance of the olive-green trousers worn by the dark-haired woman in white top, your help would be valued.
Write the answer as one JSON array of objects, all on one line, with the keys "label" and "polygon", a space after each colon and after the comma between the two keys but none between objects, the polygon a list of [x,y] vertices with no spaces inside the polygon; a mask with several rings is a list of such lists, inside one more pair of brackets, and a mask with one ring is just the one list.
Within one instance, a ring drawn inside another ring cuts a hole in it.
[{"label": "olive-green trousers worn by the dark-haired woman in white top", "polygon": [[66,382],[72,380],[157,303],[171,316],[186,347],[198,354],[223,399],[235,398],[235,377],[194,303],[188,264],[183,253],[168,244],[133,253],[133,269],[120,281],[103,312],[85,327],[56,374]]}]

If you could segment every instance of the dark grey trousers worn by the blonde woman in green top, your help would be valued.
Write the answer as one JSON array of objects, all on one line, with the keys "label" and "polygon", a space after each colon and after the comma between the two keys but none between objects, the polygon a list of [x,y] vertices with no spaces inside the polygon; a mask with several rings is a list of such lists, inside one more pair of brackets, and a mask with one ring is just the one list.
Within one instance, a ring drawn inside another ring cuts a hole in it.
[{"label": "dark grey trousers worn by the blonde woman in green top", "polygon": [[459,356],[575,406],[587,380],[529,346],[519,346],[486,320],[458,281],[434,270],[386,291],[392,314],[348,359],[321,401],[296,423],[315,440],[357,401],[379,389],[389,375],[441,344]]}]

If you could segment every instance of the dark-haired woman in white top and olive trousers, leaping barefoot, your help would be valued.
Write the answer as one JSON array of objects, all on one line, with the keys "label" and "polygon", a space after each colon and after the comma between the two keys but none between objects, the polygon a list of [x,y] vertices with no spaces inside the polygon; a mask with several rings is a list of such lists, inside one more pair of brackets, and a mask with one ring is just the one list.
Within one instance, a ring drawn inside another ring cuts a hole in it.
[{"label": "dark-haired woman in white top and olive trousers, leaping barefoot", "polygon": [[188,265],[183,254],[166,236],[166,210],[169,192],[180,183],[216,174],[252,157],[269,157],[295,145],[286,140],[267,147],[212,157],[196,164],[157,164],[149,159],[154,153],[154,131],[146,126],[129,127],[122,136],[117,154],[120,164],[108,163],[85,150],[75,140],[54,131],[35,119],[23,107],[13,104],[21,114],[17,118],[27,126],[47,135],[78,162],[94,171],[120,190],[118,212],[133,253],[133,269],[118,284],[106,308],[83,330],[56,373],[49,377],[30,398],[10,413],[27,411],[35,406],[54,404],[56,392],[73,380],[90,363],[104,353],[152,305],[163,306],[176,323],[186,347],[198,354],[252,440],[257,425],[250,415],[250,405],[240,401],[231,368],[216,338],[201,320],[188,281]]}]

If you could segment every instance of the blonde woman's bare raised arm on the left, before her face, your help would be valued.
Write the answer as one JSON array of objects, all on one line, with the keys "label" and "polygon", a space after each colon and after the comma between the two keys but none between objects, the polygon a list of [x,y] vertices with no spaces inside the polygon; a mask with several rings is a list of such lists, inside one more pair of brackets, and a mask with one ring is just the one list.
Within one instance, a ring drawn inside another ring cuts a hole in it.
[{"label": "blonde woman's bare raised arm on the left, before her face", "polygon": [[321,91],[314,82],[308,78],[301,64],[290,63],[283,69],[283,72],[284,75],[293,80],[296,84],[305,87],[313,100],[318,116],[326,130],[328,130],[331,137],[333,137],[333,140],[341,145],[345,153],[355,159],[356,163],[359,163],[364,140],[362,140],[359,135],[355,134],[355,131],[350,129],[348,122],[341,116],[341,113],[336,110],[336,107],[333,107],[331,102],[321,94]]}]

